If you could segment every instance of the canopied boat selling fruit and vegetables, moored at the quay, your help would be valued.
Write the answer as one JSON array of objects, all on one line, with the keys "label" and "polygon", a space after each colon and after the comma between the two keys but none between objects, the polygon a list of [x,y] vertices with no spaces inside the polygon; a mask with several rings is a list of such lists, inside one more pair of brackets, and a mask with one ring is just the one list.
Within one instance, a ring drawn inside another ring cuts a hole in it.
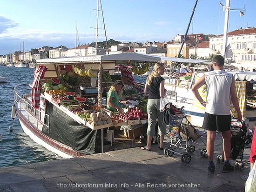
[{"label": "canopied boat selling fruit and vegetables, moored at the quay", "polygon": [[[128,61],[157,62],[160,59],[138,53],[121,53],[37,60],[38,66],[35,69],[31,93],[21,95],[18,88],[14,88],[14,105],[22,129],[35,142],[63,158],[103,152],[103,129],[114,125],[128,125],[129,122],[116,122],[111,119],[112,121],[107,124],[94,126],[85,117],[81,117],[81,114],[91,114],[97,110],[103,113],[102,97],[106,97],[106,92],[102,93],[101,74],[104,71],[114,74],[115,65],[127,64]],[[73,84],[67,81],[68,74],[76,79]],[[86,76],[89,76],[89,81],[86,81]],[[56,98],[56,90],[47,91],[50,80],[58,86],[65,86],[65,93],[73,98],[66,99],[68,97],[63,95]],[[77,98],[74,98],[74,95]],[[98,104],[84,102],[89,98],[97,100]],[[82,102],[88,104],[89,110],[80,111]],[[141,122],[134,120],[130,124],[136,125]]]}]

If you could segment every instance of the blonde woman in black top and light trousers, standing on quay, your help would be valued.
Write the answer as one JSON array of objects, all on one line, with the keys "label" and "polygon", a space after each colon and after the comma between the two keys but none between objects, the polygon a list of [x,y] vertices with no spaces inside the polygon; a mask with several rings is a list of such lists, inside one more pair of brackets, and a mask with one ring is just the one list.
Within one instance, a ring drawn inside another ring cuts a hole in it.
[{"label": "blonde woman in black top and light trousers, standing on quay", "polygon": [[166,125],[162,125],[162,115],[160,112],[160,98],[165,96],[164,79],[161,75],[164,73],[164,65],[156,63],[154,70],[148,75],[144,92],[148,93],[148,130],[147,130],[147,146],[141,147],[143,150],[151,151],[151,141],[155,136],[155,125],[158,117],[158,134],[160,135],[159,148],[163,149],[163,139],[166,134]]}]

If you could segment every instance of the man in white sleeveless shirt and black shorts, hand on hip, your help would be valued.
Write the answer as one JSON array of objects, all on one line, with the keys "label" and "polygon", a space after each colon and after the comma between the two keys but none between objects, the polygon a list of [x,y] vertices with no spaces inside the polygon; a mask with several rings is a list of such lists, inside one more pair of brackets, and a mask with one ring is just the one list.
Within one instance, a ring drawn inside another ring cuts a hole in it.
[{"label": "man in white sleeveless shirt and black shorts, hand on hip", "polygon": [[[214,71],[205,73],[192,87],[192,91],[196,99],[205,107],[202,128],[207,130],[208,172],[213,174],[215,171],[213,156],[216,131],[222,132],[224,152],[224,166],[222,172],[234,171],[234,166],[229,164],[231,150],[229,97],[238,113],[238,121],[242,120],[242,114],[236,97],[234,77],[232,74],[223,70],[224,58],[221,55],[216,55],[212,61]],[[204,101],[198,92],[198,89],[204,84],[206,84],[207,87],[207,101]]]}]

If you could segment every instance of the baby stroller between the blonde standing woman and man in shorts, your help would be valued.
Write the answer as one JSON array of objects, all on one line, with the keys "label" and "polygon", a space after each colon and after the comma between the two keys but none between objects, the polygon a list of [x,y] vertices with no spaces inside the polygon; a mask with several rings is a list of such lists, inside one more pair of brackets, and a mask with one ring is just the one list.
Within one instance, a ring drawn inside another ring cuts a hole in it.
[{"label": "baby stroller between the blonde standing woman and man in shorts", "polygon": [[[187,116],[181,109],[176,108],[172,104],[171,107],[164,111],[164,122],[169,123],[170,146],[164,149],[164,154],[171,157],[174,153],[182,155],[182,162],[189,163],[191,156],[189,152],[195,151],[195,146],[202,146],[201,155],[207,156],[206,144],[202,140],[195,127],[189,122]],[[195,140],[200,139],[200,143],[196,143]],[[185,143],[185,144],[184,144]],[[176,148],[184,149],[185,153],[176,152]]]}]

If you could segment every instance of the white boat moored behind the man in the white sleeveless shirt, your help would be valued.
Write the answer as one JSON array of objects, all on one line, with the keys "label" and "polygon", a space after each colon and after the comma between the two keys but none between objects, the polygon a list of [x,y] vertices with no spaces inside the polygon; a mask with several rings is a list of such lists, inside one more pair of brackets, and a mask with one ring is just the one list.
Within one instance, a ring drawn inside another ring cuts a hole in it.
[{"label": "white boat moored behind the man in the white sleeveless shirt", "polygon": [[[236,94],[239,99],[240,109],[243,117],[249,119],[249,127],[255,126],[256,121],[256,73],[253,72],[229,72],[236,80]],[[191,90],[196,79],[202,77],[203,73],[194,73],[191,79],[174,79],[170,83],[165,83],[167,97],[173,105],[184,106],[184,113],[191,119],[194,126],[202,127],[204,117],[204,107],[195,99]],[[206,92],[202,87],[201,96],[206,99]],[[254,99],[255,98],[255,99]],[[232,105],[231,105],[232,106]],[[231,107],[232,109],[232,107]],[[236,113],[233,111],[233,113]]]}]

